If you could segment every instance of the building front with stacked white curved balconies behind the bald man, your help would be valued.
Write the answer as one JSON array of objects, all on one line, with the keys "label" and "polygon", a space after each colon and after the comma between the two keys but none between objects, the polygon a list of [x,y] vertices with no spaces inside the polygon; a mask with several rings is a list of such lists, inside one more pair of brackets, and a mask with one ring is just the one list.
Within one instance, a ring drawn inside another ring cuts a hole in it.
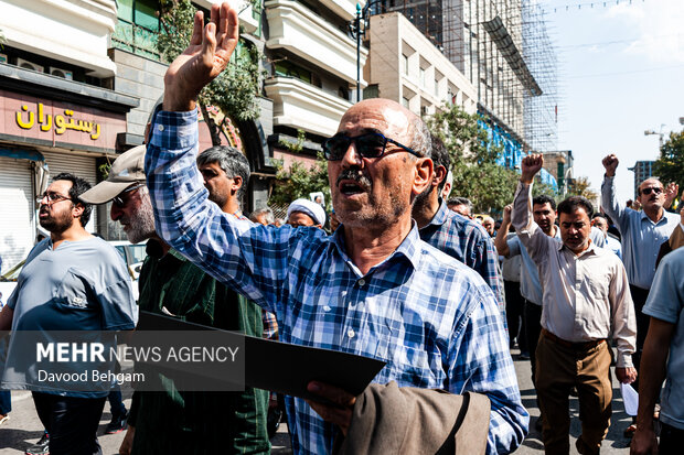
[{"label": "building front with stacked white curved balconies behind the bald man", "polygon": [[[293,161],[310,165],[356,99],[356,42],[348,33],[356,1],[267,0],[264,11],[272,156],[285,167]],[[359,57],[363,68],[367,50]],[[363,77],[360,83],[367,85]],[[306,139],[295,152],[288,144],[302,131]]]}]

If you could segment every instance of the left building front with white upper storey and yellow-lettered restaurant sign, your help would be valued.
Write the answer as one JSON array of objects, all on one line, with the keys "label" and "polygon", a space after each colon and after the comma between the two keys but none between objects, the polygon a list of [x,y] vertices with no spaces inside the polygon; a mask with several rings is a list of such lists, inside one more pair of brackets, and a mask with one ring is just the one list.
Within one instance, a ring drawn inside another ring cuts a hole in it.
[{"label": "left building front with white upper storey and yellow-lettered restaurant sign", "polygon": [[[135,97],[107,88],[116,2],[0,1],[0,256],[2,271],[23,260],[39,234],[36,212],[50,175],[92,184],[116,156]],[[96,230],[95,214],[88,230]]]}]

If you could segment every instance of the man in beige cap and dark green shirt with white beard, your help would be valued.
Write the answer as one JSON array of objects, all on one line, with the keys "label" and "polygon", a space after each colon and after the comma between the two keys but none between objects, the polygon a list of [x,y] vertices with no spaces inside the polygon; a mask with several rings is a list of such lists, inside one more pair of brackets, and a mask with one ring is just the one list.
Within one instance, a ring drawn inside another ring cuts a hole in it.
[{"label": "man in beige cap and dark green shirt with white beard", "polygon": [[[143,162],[143,145],[121,154],[107,181],[83,195],[94,204],[111,201],[111,219],[124,226],[131,242],[149,239],[138,282],[140,310],[260,336],[258,306],[159,239]],[[136,391],[119,453],[268,454],[267,404],[267,396],[252,388],[244,392],[186,392],[169,381],[162,392]]]}]

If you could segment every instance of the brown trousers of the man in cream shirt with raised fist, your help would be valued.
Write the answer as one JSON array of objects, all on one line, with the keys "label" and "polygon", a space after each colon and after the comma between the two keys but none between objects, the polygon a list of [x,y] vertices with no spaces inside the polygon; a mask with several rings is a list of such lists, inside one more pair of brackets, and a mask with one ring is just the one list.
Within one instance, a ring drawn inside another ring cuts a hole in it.
[{"label": "brown trousers of the man in cream shirt with raised fist", "polygon": [[539,336],[537,345],[536,389],[543,415],[543,441],[547,454],[565,455],[569,446],[570,388],[579,398],[581,435],[577,449],[598,454],[610,426],[612,383],[607,343],[591,348],[568,347]]}]

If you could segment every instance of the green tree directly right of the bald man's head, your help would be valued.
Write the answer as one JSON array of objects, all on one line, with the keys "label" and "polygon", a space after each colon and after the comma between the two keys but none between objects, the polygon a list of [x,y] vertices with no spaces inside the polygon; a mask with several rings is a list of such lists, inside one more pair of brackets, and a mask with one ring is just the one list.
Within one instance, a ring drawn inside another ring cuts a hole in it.
[{"label": "green tree directly right of the bald man's head", "polygon": [[498,212],[513,202],[519,175],[496,163],[502,148],[492,143],[478,120],[481,116],[447,104],[428,126],[451,156],[451,196],[468,197],[477,212]]}]

